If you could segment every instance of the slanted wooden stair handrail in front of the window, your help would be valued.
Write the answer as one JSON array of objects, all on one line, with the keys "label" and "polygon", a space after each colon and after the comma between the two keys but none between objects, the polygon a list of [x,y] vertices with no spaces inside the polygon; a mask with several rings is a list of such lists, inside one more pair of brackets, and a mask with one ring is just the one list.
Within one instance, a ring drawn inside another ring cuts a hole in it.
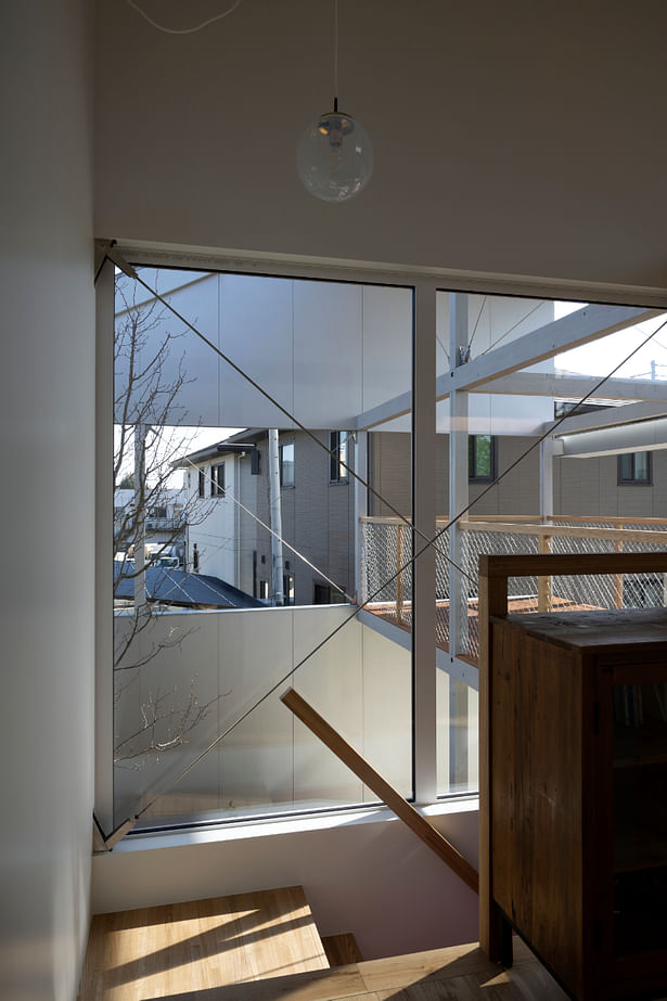
[{"label": "slanted wooden stair handrail in front of the window", "polygon": [[294,715],[305,723],[308,729],[332,750],[337,758],[346,765],[358,779],[369,786],[370,790],[406,823],[414,834],[420,837],[432,851],[446,862],[456,874],[463,880],[466,886],[470,886],[475,893],[478,893],[479,880],[477,871],[464,859],[460,851],[454,848],[439,831],[429,824],[418,810],[414,809],[398,793],[386,779],[375,771],[365,758],[355,750],[355,748],[341,736],[341,734],[312,708],[309,703],[303,698],[294,689],[288,689],[280,696]]}]

